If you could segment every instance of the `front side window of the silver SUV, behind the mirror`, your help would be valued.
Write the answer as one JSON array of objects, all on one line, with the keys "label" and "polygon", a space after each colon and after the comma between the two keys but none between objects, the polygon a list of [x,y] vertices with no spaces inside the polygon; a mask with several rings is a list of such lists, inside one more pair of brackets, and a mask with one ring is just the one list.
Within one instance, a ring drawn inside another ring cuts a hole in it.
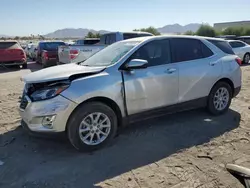
[{"label": "front side window of the silver SUV, behind the mirror", "polygon": [[170,63],[169,40],[152,41],[138,49],[130,59],[143,59],[148,66],[157,66]]}]

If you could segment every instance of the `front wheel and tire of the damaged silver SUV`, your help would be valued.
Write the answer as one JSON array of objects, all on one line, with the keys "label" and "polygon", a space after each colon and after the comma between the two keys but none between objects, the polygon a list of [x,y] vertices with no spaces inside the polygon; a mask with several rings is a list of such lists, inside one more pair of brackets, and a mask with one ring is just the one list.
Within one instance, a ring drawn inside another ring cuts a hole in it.
[{"label": "front wheel and tire of the damaged silver SUV", "polygon": [[107,105],[90,102],[81,105],[70,117],[68,138],[79,151],[93,151],[109,143],[117,132],[117,116]]}]

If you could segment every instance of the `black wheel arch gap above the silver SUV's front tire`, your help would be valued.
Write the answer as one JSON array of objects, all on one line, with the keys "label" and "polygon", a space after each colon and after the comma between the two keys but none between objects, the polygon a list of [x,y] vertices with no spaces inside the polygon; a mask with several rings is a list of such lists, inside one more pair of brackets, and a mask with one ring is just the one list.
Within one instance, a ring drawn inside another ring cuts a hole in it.
[{"label": "black wheel arch gap above the silver SUV's front tire", "polygon": [[68,124],[69,124],[69,121],[70,121],[72,115],[80,108],[80,106],[82,106],[86,103],[90,103],[90,102],[101,102],[101,103],[109,106],[117,116],[118,127],[121,127],[123,125],[122,112],[121,112],[121,109],[119,108],[118,104],[115,101],[113,101],[112,99],[107,98],[107,97],[93,97],[93,98],[89,98],[89,99],[83,101],[82,103],[78,104],[77,107],[71,112],[71,114],[67,120],[67,123],[66,123],[66,129],[65,129],[66,132],[68,131]]}]

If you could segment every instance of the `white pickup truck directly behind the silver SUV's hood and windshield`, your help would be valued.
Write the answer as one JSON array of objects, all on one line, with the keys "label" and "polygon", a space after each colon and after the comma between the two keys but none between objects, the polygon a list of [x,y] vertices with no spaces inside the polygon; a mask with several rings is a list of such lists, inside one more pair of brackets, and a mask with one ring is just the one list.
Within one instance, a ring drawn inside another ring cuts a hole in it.
[{"label": "white pickup truck directly behind the silver SUV's hood and windshield", "polygon": [[111,32],[103,34],[100,38],[100,42],[95,45],[76,44],[71,46],[60,46],[58,48],[58,64],[84,61],[96,52],[105,48],[107,45],[113,44],[117,41],[145,36],[153,35],[147,32]]}]

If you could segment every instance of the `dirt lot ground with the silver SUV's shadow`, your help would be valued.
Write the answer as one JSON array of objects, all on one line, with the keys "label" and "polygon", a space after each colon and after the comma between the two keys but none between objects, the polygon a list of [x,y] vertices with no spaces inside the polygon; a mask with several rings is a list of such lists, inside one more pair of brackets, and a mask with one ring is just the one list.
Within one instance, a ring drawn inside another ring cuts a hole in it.
[{"label": "dirt lot ground with the silver SUV's shadow", "polygon": [[134,124],[90,154],[19,126],[20,76],[39,67],[29,68],[0,73],[1,188],[242,187],[225,164],[250,167],[250,66],[242,67],[243,88],[226,115],[195,110]]}]

